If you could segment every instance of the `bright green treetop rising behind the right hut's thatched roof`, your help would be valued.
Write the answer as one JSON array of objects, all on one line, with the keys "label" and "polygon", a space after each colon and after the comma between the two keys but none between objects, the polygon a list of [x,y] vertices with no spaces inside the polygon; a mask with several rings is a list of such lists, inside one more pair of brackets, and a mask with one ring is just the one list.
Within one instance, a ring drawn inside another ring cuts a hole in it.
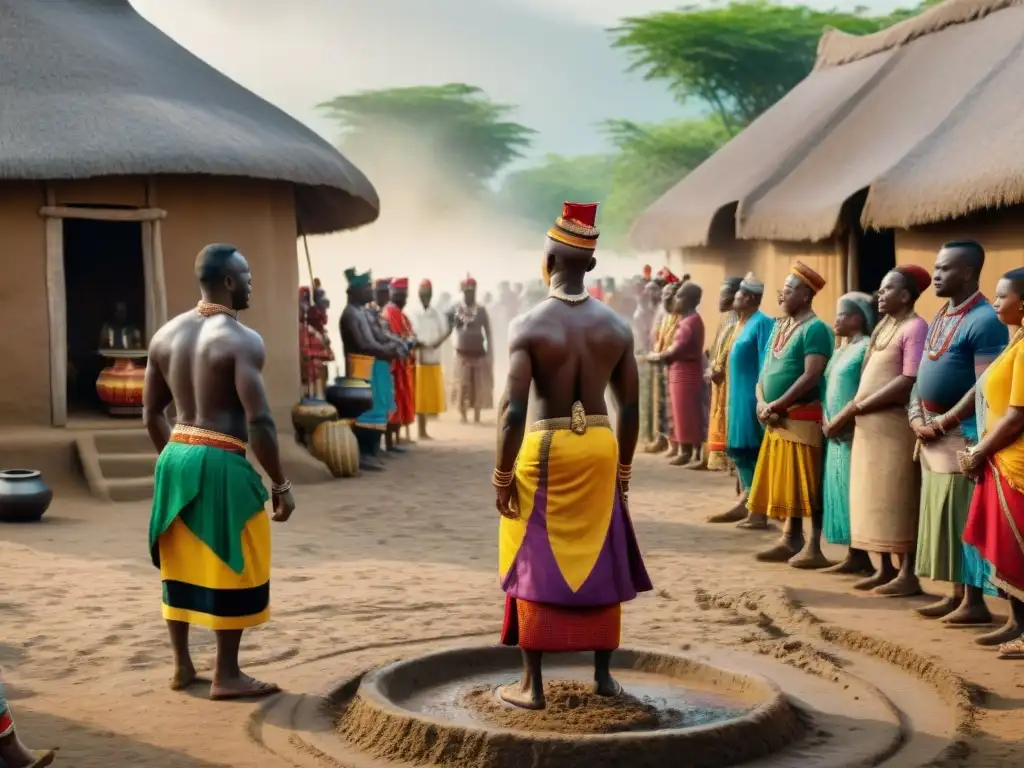
[{"label": "bright green treetop rising behind the right hut's thatched roof", "polygon": [[609,32],[615,47],[633,59],[633,70],[666,81],[680,101],[708,104],[734,135],[810,74],[825,28],[868,34],[934,1],[870,16],[864,8],[821,11],[735,0],[624,18]]}]

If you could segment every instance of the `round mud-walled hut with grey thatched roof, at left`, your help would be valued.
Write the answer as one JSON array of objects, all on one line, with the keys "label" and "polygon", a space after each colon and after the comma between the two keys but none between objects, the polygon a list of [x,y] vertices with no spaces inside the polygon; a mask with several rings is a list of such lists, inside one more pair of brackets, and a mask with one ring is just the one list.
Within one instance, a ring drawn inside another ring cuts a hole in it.
[{"label": "round mud-walled hut with grey thatched roof, at left", "polygon": [[296,239],[376,219],[372,184],[128,0],[0,0],[0,427],[74,423],[69,382],[115,302],[148,339],[195,305],[195,258],[213,242],[250,261],[243,319],[290,425]]}]

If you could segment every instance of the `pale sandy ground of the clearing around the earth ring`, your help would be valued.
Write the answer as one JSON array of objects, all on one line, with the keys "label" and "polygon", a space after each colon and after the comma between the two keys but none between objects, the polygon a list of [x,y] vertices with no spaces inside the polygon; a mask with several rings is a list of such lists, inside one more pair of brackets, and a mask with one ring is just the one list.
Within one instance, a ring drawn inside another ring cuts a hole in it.
[{"label": "pale sandy ground of the clearing around the earth ring", "polygon": [[[493,427],[446,419],[433,431],[437,439],[386,474],[296,489],[295,516],[274,527],[273,618],[246,637],[248,671],[318,692],[424,644],[497,639]],[[732,498],[726,476],[637,460],[632,514],[655,592],[628,606],[625,643],[777,638],[785,630],[759,601],[790,588],[830,625],[889,638],[970,681],[980,733],[966,764],[1024,764],[1024,664],[974,646],[974,630],[918,618],[920,601],[864,597],[839,577],[754,562],[770,534],[703,522]],[[33,745],[59,745],[58,764],[78,768],[280,764],[249,736],[255,705],[167,689],[147,517],[145,504],[57,498],[43,523],[0,527],[0,666],[19,730]],[[194,648],[208,668],[212,636],[195,632]]]}]

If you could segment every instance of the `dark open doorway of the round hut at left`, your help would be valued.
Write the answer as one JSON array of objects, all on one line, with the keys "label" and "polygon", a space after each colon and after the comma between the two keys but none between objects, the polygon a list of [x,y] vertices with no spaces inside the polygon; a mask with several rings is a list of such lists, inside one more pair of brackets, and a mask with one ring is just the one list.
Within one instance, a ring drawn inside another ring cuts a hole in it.
[{"label": "dark open doorway of the round hut at left", "polygon": [[142,222],[65,218],[62,228],[68,411],[99,414],[98,349],[146,342]]}]

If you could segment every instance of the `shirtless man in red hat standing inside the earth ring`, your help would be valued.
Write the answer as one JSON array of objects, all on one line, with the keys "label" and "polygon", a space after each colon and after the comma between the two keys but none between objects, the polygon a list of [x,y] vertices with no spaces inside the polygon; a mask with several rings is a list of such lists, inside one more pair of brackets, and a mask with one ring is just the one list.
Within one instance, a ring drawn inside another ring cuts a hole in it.
[{"label": "shirtless man in red hat standing inside the earth ring", "polygon": [[[502,642],[519,646],[524,669],[499,694],[531,710],[546,706],[545,652],[594,651],[595,691],[622,691],[609,669],[622,603],[651,589],[627,508],[639,432],[633,332],[584,286],[596,264],[596,209],[565,204],[548,231],[548,299],[509,329],[493,481],[502,515]],[[531,385],[541,421],[527,430]],[[534,515],[544,522],[531,522]]]}]

